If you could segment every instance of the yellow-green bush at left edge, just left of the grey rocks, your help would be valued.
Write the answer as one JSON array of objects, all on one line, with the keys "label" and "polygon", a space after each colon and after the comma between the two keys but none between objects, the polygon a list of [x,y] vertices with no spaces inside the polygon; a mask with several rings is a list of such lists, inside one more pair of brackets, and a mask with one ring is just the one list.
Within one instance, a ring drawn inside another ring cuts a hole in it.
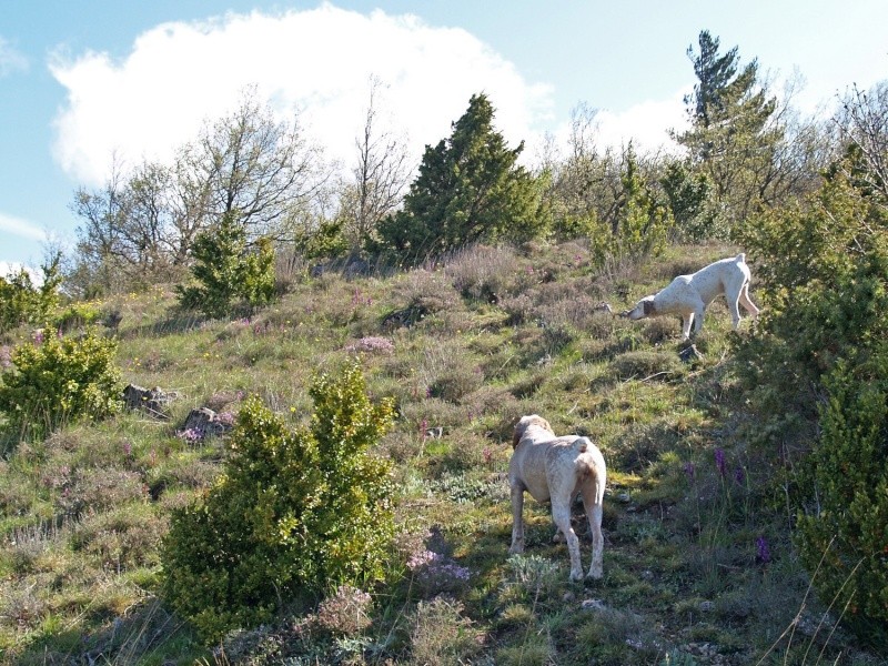
[{"label": "yellow-green bush at left edge, just left of the grey rocks", "polygon": [[92,329],[81,337],[44,329],[40,339],[17,346],[12,366],[0,375],[8,430],[42,438],[63,423],[95,421],[122,408],[115,341]]}]

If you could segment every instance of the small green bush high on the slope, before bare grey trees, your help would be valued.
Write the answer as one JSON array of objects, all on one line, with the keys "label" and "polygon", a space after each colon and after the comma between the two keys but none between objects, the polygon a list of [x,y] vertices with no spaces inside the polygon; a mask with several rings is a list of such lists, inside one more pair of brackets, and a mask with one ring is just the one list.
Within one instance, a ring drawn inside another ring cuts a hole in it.
[{"label": "small green bush high on the slope, before bare grey trees", "polygon": [[191,272],[200,284],[176,287],[183,307],[221,317],[241,303],[252,309],[274,300],[271,240],[260,239],[255,248],[249,248],[246,230],[233,214],[199,234],[191,252],[195,259]]}]

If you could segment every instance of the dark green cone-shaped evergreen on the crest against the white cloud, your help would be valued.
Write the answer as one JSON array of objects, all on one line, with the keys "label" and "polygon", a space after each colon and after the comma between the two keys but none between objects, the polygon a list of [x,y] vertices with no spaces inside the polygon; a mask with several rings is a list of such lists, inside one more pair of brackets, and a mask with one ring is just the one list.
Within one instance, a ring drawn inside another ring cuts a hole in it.
[{"label": "dark green cone-shaped evergreen on the crest against the white cloud", "polygon": [[494,108],[473,95],[453,133],[426,147],[404,209],[380,225],[383,244],[408,261],[477,241],[524,240],[547,226],[542,188],[493,129]]}]

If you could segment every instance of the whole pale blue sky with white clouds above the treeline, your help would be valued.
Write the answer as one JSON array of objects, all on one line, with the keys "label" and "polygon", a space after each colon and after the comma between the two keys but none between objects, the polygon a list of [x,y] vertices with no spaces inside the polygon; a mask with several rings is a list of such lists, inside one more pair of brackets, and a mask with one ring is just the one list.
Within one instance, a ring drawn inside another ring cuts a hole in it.
[{"label": "whole pale blue sky with white clouds above the treeline", "polygon": [[74,191],[101,186],[112,155],[168,158],[248,84],[346,165],[370,75],[417,159],[483,90],[532,160],[581,102],[604,143],[666,141],[704,29],[776,93],[798,72],[795,104],[828,115],[888,79],[885,26],[885,0],[2,0],[0,272],[39,264],[46,234],[74,240]]}]

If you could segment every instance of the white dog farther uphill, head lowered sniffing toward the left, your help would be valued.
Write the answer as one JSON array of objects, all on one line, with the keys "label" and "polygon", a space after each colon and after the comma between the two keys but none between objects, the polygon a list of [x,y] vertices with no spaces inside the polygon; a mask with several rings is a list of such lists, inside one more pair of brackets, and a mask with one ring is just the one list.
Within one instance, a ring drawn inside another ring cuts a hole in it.
[{"label": "white dog farther uphill, head lowered sniffing toward the left", "polygon": [[645,296],[635,304],[635,307],[623,312],[622,316],[639,320],[662,314],[678,314],[684,320],[683,337],[687,340],[690,337],[692,324],[694,333],[699,333],[706,306],[716,296],[724,294],[736,331],[740,323],[738,303],[753,319],[759,313],[758,307],[749,300],[749,278],[746,255],[741,252],[731,259],[712,263],[693,275],[678,275],[668,286],[654,295]]}]

